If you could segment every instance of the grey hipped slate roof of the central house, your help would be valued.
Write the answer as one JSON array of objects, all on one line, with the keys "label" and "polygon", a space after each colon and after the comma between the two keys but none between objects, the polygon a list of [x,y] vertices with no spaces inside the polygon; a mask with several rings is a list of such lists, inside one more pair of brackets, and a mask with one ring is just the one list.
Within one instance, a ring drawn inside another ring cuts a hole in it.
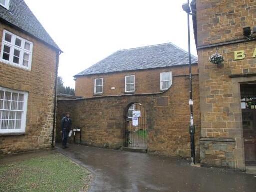
[{"label": "grey hipped slate roof of the central house", "polygon": [[[197,63],[197,57],[194,55],[191,55],[191,63]],[[188,64],[188,52],[172,43],[164,43],[119,50],[74,77],[186,64]]]}]

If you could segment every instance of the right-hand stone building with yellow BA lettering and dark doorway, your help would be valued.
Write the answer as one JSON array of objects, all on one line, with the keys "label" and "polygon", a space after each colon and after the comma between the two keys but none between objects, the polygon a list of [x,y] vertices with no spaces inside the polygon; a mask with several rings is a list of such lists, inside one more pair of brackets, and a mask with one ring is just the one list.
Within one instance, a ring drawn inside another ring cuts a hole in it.
[{"label": "right-hand stone building with yellow BA lettering and dark doorway", "polygon": [[[193,0],[191,5],[201,163],[244,170],[256,165],[256,1]],[[216,51],[224,57],[221,64],[209,61]]]}]

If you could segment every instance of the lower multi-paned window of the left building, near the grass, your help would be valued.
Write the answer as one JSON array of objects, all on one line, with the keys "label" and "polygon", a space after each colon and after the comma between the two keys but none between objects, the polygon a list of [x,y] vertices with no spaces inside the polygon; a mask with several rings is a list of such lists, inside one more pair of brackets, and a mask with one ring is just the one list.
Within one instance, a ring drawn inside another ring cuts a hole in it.
[{"label": "lower multi-paned window of the left building, near the grass", "polygon": [[0,87],[0,133],[25,132],[27,96]]}]

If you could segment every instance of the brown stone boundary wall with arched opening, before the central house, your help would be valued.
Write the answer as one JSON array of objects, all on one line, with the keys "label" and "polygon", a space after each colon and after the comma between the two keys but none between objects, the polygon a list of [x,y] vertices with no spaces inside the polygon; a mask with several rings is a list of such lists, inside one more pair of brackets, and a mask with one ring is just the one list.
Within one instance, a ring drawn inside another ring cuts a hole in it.
[{"label": "brown stone boundary wall with arched opening, before the central house", "polygon": [[[132,103],[141,103],[147,117],[148,152],[189,157],[189,78],[181,72],[183,70],[185,70],[185,67],[171,69],[175,72],[173,73],[173,84],[169,90],[160,94],[102,96],[58,101],[57,139],[60,140],[61,117],[66,111],[69,111],[72,116],[73,128],[82,128],[83,144],[119,148],[124,143],[125,119],[128,107]],[[179,72],[180,75],[177,75],[176,72]],[[150,75],[150,79],[154,79],[152,73],[148,73],[148,75]],[[157,73],[157,77],[159,77],[159,73]],[[151,85],[155,86],[153,83]],[[158,86],[159,82],[157,82],[156,87]],[[199,135],[201,130],[198,86],[198,76],[193,75],[196,153],[199,157]],[[167,105],[163,106],[164,102],[157,105],[156,100],[160,97],[168,98]]]}]

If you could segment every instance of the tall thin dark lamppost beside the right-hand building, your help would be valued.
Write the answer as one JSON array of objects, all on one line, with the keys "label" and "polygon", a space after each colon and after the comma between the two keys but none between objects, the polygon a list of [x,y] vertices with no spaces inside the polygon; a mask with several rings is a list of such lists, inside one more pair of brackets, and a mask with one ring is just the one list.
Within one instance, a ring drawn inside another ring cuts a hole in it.
[{"label": "tall thin dark lamppost beside the right-hand building", "polygon": [[190,28],[189,28],[189,15],[191,14],[189,0],[182,5],[182,9],[187,13],[188,18],[188,47],[189,47],[189,105],[190,105],[190,150],[192,164],[196,163],[195,160],[195,126],[193,123],[193,100],[192,100],[192,74],[191,74],[191,53],[190,53]]}]

